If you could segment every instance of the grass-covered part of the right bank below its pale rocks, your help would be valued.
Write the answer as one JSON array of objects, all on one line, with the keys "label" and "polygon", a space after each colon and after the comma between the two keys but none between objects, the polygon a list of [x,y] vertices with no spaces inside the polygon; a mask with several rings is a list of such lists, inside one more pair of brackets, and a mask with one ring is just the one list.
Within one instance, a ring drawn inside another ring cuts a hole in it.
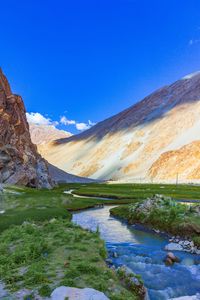
[{"label": "grass-covered part of the right bank below its pale rocks", "polygon": [[173,235],[192,238],[200,246],[200,217],[192,207],[168,200],[149,212],[138,212],[137,206],[137,203],[118,206],[111,209],[111,214],[127,220],[129,224],[140,223]]}]

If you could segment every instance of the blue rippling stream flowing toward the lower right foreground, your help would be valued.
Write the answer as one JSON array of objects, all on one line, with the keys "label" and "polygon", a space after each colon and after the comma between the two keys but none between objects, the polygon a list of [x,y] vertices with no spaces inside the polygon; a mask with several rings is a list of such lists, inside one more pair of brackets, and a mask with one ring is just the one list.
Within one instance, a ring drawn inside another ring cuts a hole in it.
[{"label": "blue rippling stream flowing toward the lower right foreground", "polygon": [[167,239],[113,218],[110,208],[88,209],[73,214],[73,222],[83,228],[100,230],[115,266],[126,265],[140,274],[151,300],[165,300],[200,293],[200,256],[173,251],[180,263],[167,267],[163,263]]}]

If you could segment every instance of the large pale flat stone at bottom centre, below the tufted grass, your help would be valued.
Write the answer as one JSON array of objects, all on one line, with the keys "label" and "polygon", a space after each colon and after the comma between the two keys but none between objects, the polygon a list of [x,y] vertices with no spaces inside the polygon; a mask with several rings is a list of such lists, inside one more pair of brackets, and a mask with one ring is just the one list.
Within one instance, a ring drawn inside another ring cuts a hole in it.
[{"label": "large pale flat stone at bottom centre, below the tufted grass", "polygon": [[72,288],[60,286],[56,288],[51,294],[51,300],[109,300],[109,298],[102,292],[92,288]]}]

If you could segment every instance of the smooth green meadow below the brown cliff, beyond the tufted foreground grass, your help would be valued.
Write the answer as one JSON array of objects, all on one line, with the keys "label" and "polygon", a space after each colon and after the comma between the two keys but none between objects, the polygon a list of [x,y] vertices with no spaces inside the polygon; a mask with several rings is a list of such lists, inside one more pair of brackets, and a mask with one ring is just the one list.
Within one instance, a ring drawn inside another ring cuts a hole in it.
[{"label": "smooth green meadow below the brown cliff, beyond the tufted foreground grass", "polygon": [[[11,224],[21,224],[26,220],[46,220],[58,216],[70,218],[69,211],[90,208],[98,204],[132,202],[131,199],[75,198],[72,195],[63,193],[69,189],[74,189],[78,193],[81,187],[80,184],[65,184],[52,190],[36,190],[16,186],[5,188],[1,207],[6,212],[0,217],[0,231]],[[99,187],[101,188],[101,185]]]}]

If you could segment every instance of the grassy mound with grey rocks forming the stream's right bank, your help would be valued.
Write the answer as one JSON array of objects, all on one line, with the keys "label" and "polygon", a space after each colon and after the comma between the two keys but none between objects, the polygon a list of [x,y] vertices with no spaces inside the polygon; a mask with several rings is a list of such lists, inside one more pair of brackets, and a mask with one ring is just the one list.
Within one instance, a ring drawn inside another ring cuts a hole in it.
[{"label": "grassy mound with grey rocks forming the stream's right bank", "polygon": [[177,203],[170,197],[155,195],[143,202],[111,209],[111,215],[129,224],[148,226],[168,235],[166,250],[200,254],[200,206]]}]

